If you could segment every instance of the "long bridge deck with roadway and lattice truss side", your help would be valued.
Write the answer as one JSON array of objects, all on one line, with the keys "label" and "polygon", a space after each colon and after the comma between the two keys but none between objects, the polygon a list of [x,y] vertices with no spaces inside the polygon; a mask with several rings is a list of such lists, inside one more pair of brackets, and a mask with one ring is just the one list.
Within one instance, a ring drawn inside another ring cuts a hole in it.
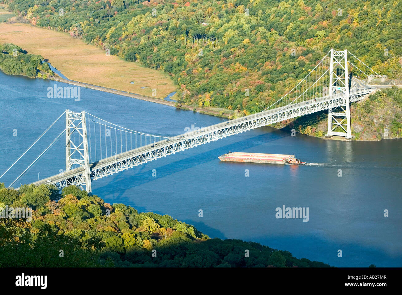
[{"label": "long bridge deck with roadway and lattice truss side", "polygon": [[[354,80],[354,79],[353,79]],[[357,79],[356,79],[357,80]],[[369,86],[364,84],[357,84],[351,88],[350,102],[361,100],[366,94],[373,92],[377,88],[385,88],[390,86]],[[117,173],[124,169],[138,166],[148,161],[162,158],[186,150],[190,147],[195,147],[203,143],[215,141],[217,139],[234,135],[250,129],[262,127],[286,119],[299,117],[308,113],[314,113],[325,109],[338,107],[344,103],[344,94],[336,94],[332,97],[323,96],[317,99],[305,100],[297,103],[289,104],[285,107],[277,107],[260,113],[240,117],[223,123],[211,125],[209,127],[201,128],[197,131],[187,132],[169,139],[157,141],[154,144],[144,145],[127,152],[117,154],[98,162],[92,163],[91,166],[91,180],[103,178],[104,176]],[[59,188],[74,184],[84,184],[84,168],[79,167],[73,170],[56,174],[48,178],[33,182],[35,185],[39,184],[55,184]]]}]

